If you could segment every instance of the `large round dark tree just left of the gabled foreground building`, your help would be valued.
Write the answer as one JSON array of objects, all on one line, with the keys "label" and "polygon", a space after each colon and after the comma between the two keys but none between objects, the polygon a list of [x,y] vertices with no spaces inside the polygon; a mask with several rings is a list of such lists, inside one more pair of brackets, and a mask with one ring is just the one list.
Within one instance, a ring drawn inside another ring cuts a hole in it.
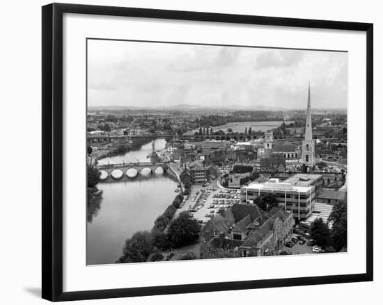
[{"label": "large round dark tree just left of the gabled foreground building", "polygon": [[171,222],[167,236],[173,247],[181,247],[196,240],[200,230],[198,221],[185,211]]}]

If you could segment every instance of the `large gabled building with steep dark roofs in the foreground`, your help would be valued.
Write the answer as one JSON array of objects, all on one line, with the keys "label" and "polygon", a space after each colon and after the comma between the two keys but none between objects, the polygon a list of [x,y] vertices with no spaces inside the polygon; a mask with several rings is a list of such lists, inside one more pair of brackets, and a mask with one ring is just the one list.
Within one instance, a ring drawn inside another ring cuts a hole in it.
[{"label": "large gabled building with steep dark roofs in the foreground", "polygon": [[266,213],[256,205],[235,204],[201,230],[201,258],[276,255],[293,226],[292,213],[281,208]]}]

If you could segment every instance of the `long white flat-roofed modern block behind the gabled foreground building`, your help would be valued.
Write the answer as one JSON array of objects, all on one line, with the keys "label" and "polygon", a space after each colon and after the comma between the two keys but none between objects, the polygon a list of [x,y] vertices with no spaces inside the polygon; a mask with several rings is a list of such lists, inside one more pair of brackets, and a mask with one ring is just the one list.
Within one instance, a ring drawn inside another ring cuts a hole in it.
[{"label": "long white flat-roofed modern block behind the gabled foreground building", "polygon": [[241,188],[241,201],[253,204],[255,199],[267,194],[275,195],[279,207],[285,211],[292,211],[297,220],[305,220],[312,213],[315,203],[315,186],[300,186],[279,179],[269,179],[265,183],[251,183]]}]

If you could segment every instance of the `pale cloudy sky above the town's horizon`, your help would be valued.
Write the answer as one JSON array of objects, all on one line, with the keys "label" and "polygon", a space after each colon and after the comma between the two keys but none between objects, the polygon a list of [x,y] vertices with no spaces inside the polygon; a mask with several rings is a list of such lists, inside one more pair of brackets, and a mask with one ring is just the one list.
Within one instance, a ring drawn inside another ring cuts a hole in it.
[{"label": "pale cloudy sky above the town's horizon", "polygon": [[88,106],[347,107],[347,53],[88,40]]}]

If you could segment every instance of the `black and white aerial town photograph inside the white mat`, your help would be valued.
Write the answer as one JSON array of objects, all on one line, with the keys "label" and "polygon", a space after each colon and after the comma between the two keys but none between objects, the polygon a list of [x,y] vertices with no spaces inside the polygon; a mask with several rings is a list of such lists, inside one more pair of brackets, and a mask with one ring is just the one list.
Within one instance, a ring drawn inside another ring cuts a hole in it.
[{"label": "black and white aerial town photograph inside the white mat", "polygon": [[88,38],[86,264],[347,252],[347,63]]}]

